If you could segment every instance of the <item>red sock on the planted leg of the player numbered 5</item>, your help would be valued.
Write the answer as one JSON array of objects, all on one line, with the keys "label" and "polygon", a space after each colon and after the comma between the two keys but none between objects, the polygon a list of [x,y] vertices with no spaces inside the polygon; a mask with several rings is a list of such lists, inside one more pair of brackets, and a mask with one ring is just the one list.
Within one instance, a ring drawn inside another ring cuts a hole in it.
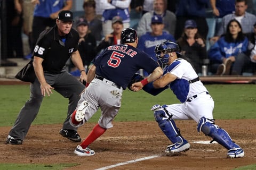
[{"label": "red sock on the planted leg of the player numbered 5", "polygon": [[[73,122],[72,122],[73,123]],[[97,125],[94,126],[91,133],[87,136],[87,138],[81,143],[81,147],[85,149],[87,146],[89,146],[93,141],[98,139],[103,133],[105,133],[107,129],[101,128],[100,125],[97,123]]]}]

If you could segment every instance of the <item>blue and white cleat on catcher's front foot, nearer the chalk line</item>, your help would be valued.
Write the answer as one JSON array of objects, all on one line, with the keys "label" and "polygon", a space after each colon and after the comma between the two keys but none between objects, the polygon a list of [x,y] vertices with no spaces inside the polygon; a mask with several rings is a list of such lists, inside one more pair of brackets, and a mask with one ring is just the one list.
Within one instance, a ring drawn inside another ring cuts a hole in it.
[{"label": "blue and white cleat on catcher's front foot, nearer the chalk line", "polygon": [[187,151],[190,148],[190,144],[188,141],[183,140],[182,143],[174,143],[173,145],[167,146],[167,149],[165,149],[166,154],[175,154],[182,151]]}]

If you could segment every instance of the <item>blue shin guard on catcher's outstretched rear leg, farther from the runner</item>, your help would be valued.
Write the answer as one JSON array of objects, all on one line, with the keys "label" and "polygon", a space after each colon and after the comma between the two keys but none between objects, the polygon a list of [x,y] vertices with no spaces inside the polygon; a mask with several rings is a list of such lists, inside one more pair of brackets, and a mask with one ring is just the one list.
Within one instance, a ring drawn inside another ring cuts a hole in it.
[{"label": "blue shin guard on catcher's outstretched rear leg, farther from the runner", "polygon": [[211,137],[213,141],[217,141],[226,149],[240,148],[235,142],[232,141],[229,134],[214,124],[214,120],[209,120],[201,117],[197,124],[197,131],[202,131],[205,135]]}]

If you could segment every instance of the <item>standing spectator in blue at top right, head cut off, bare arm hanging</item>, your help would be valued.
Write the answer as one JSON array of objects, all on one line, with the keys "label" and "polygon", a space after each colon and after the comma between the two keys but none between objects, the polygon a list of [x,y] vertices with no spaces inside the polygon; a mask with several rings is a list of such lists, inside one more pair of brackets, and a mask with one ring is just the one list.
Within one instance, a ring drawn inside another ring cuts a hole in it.
[{"label": "standing spectator in blue at top right, head cut off, bare arm hanging", "polygon": [[[221,26],[222,17],[235,11],[235,0],[210,0],[215,17],[215,35]],[[215,36],[214,35],[214,36]]]}]

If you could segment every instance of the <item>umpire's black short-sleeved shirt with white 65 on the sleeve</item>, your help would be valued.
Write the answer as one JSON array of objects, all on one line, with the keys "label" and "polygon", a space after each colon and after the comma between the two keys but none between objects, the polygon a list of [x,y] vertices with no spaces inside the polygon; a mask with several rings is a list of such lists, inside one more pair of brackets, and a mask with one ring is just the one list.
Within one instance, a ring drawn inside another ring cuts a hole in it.
[{"label": "umpire's black short-sleeved shirt with white 65 on the sleeve", "polygon": [[78,49],[78,32],[71,29],[68,35],[60,37],[57,25],[44,30],[34,49],[34,56],[44,59],[44,71],[60,73],[71,53]]}]

